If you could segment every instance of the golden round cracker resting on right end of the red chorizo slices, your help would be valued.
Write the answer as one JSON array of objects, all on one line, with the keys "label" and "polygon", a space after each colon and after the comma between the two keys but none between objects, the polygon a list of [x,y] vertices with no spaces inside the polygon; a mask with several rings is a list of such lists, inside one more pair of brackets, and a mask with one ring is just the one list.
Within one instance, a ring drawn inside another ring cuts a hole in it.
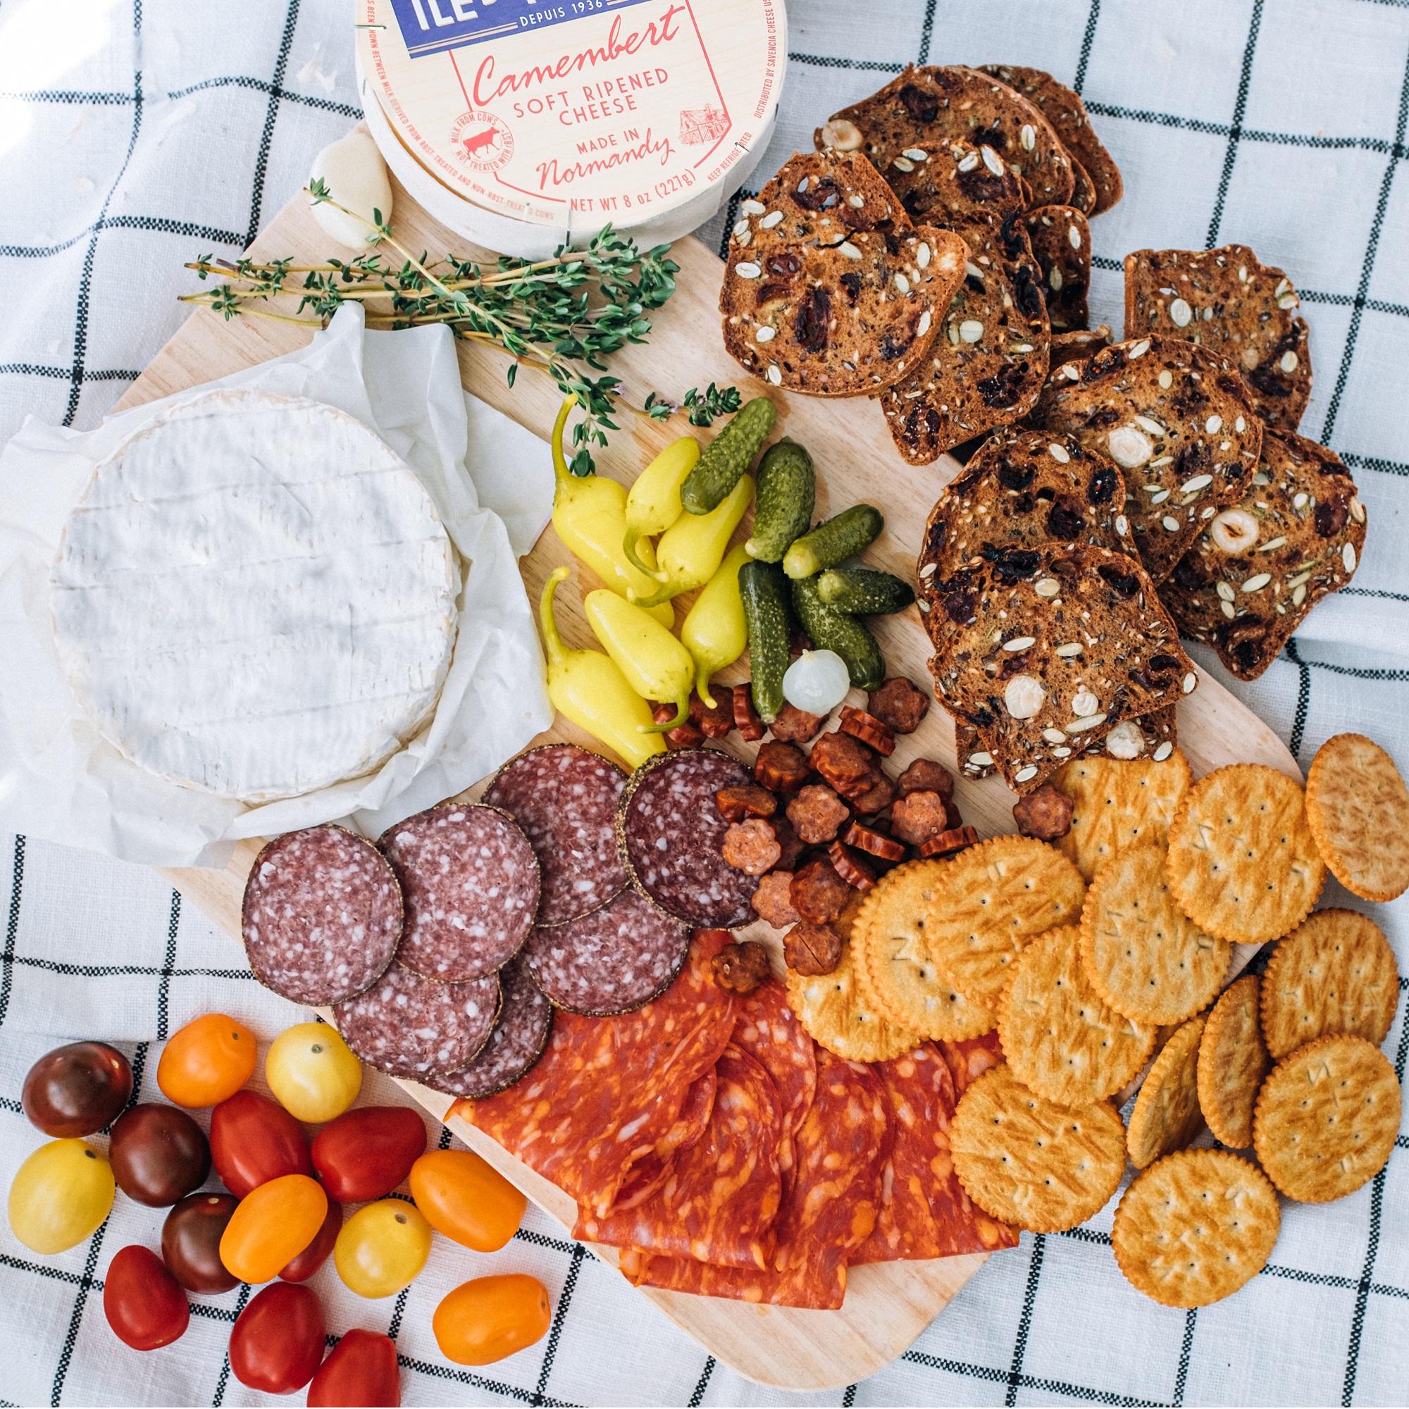
[{"label": "golden round cracker resting on right end of the red chorizo slices", "polygon": [[985,1213],[1061,1233],[1099,1213],[1120,1186],[1124,1134],[1109,1100],[1058,1106],[1005,1062],[960,1098],[950,1150],[964,1192]]}]

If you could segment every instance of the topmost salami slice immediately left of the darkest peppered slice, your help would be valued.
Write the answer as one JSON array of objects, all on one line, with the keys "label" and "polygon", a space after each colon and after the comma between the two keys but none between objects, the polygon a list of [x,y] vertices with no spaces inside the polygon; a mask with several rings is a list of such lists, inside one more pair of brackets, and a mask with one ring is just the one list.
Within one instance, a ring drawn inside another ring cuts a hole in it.
[{"label": "topmost salami slice immediately left of the darkest peppered slice", "polygon": [[626,774],[576,744],[545,744],[495,775],[485,793],[523,827],[538,857],[542,893],[534,924],[568,924],[626,889],[616,809]]}]

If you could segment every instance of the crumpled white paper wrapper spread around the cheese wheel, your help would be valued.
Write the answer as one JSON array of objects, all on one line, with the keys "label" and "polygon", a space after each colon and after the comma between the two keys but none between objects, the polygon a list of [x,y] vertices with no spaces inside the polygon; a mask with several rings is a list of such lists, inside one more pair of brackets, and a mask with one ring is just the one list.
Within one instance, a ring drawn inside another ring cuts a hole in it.
[{"label": "crumpled white paper wrapper spread around the cheese wheel", "polygon": [[232,843],[351,819],[368,836],[468,788],[552,723],[533,607],[519,576],[552,509],[544,444],[468,396],[442,327],[368,333],[342,309],[313,342],[213,386],[335,406],[417,473],[459,551],[449,675],[430,724],[375,774],[247,807],[163,782],[89,723],[59,666],[49,568],[94,466],[175,400],[93,431],[31,417],[0,452],[0,831],[149,865],[224,865]]}]

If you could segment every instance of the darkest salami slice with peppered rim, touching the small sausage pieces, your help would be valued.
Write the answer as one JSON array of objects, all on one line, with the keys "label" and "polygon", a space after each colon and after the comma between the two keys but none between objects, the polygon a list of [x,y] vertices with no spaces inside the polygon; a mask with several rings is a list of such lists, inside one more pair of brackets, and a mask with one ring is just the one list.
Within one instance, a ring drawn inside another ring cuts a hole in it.
[{"label": "darkest salami slice with peppered rim, touching the small sausage pieces", "polygon": [[751,782],[748,769],[713,748],[657,754],[627,783],[617,845],[631,883],[682,924],[737,930],[754,919],[757,881],[720,854],[728,821],[714,795]]}]

